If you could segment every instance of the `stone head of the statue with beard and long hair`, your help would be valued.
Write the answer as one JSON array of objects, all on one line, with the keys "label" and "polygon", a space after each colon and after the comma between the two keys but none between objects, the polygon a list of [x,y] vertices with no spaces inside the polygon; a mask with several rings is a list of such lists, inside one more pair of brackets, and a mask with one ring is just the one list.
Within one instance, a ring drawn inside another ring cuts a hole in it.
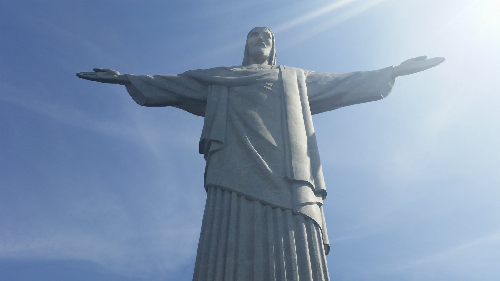
[{"label": "stone head of the statue with beard and long hair", "polygon": [[267,59],[267,64],[276,65],[274,34],[264,26],[257,26],[248,32],[242,65],[250,64],[250,58]]}]

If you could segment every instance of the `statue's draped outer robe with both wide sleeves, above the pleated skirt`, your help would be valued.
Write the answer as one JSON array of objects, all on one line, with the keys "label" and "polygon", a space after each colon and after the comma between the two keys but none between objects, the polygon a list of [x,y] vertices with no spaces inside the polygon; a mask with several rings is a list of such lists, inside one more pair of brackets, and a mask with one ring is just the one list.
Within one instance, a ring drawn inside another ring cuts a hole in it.
[{"label": "statue's draped outer robe with both wide sleeves, above the pleated skirt", "polygon": [[326,189],[311,115],[387,96],[392,66],[335,74],[252,64],[125,75],[138,104],[204,116],[199,152],[206,160],[205,189],[214,186],[312,219],[328,253]]}]

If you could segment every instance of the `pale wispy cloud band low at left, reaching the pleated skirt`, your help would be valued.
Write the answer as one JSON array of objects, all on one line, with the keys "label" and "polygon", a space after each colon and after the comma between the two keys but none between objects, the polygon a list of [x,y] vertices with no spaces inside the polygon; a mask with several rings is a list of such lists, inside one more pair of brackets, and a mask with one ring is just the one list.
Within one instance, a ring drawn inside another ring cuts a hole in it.
[{"label": "pale wispy cloud band low at left, reaching the pleated skirt", "polygon": [[86,260],[120,275],[150,276],[191,262],[199,232],[196,227],[163,227],[141,229],[140,234],[116,231],[106,236],[102,229],[95,228],[38,230],[44,233],[15,237],[2,234],[0,257]]}]

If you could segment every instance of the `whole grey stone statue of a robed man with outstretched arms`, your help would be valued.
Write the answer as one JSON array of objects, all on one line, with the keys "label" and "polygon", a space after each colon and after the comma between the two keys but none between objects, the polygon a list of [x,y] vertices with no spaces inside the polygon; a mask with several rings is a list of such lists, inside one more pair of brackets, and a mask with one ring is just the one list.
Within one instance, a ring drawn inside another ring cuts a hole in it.
[{"label": "whole grey stone statue of a robed man with outstretched arms", "polygon": [[311,114],[388,95],[394,78],[433,67],[418,56],[343,74],[276,65],[274,35],[255,27],[242,65],[177,75],[94,68],[144,106],[203,116],[206,205],[193,280],[329,280],[326,196]]}]

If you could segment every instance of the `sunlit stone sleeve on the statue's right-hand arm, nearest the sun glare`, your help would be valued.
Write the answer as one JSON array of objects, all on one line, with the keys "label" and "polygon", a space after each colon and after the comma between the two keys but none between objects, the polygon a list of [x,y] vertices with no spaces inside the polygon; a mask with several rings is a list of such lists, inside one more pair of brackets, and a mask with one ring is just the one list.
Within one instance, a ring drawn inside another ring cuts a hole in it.
[{"label": "sunlit stone sleeve on the statue's right-hand arm, nearest the sun glare", "polygon": [[311,114],[386,97],[393,66],[343,74],[310,71],[305,77]]}]

